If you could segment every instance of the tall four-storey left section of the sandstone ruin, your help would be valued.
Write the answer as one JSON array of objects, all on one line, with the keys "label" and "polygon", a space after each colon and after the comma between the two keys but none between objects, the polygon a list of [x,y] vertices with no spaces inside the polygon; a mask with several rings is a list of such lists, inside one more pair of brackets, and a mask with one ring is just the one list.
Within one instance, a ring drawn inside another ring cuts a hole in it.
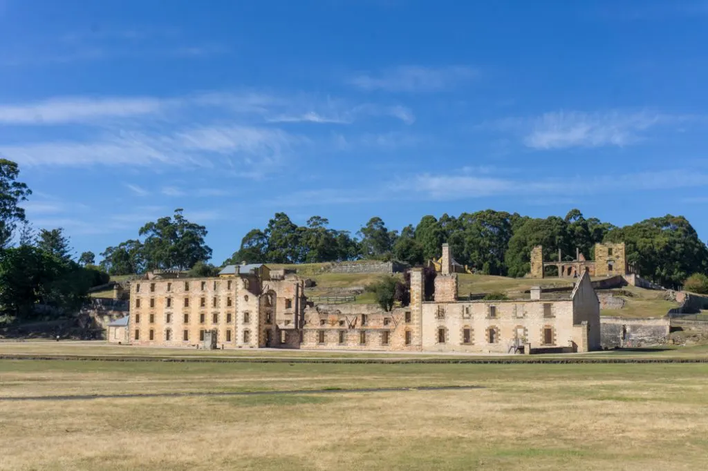
[{"label": "tall four-storey left section of the sandstone ruin", "polygon": [[215,339],[219,348],[256,348],[299,341],[303,282],[271,281],[264,265],[245,267],[227,267],[219,277],[133,282],[130,343],[199,347]]}]

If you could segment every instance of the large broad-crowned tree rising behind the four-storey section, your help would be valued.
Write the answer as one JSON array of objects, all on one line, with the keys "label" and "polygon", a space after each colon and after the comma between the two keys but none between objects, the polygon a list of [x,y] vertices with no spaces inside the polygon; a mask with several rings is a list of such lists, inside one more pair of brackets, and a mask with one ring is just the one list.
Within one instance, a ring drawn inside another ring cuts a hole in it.
[{"label": "large broad-crowned tree rising behind the four-storey section", "polygon": [[138,234],[145,238],[143,256],[148,269],[185,270],[212,256],[212,249],[204,238],[207,228],[188,221],[183,209],[175,209],[173,216],[149,222]]}]

